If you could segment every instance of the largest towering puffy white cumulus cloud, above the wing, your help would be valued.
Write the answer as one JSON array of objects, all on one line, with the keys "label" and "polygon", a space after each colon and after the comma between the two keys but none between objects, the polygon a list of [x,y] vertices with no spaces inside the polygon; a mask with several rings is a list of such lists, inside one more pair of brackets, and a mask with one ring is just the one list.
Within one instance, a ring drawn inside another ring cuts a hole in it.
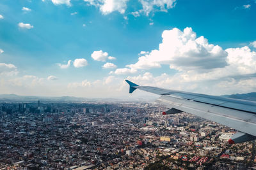
[{"label": "largest towering puffy white cumulus cloud, above the wing", "polygon": [[169,64],[178,71],[208,71],[227,66],[227,52],[218,45],[208,43],[204,36],[196,38],[196,33],[189,27],[180,31],[177,28],[163,31],[163,42],[158,50],[142,52],[138,62],[126,67],[131,69],[151,69]]}]

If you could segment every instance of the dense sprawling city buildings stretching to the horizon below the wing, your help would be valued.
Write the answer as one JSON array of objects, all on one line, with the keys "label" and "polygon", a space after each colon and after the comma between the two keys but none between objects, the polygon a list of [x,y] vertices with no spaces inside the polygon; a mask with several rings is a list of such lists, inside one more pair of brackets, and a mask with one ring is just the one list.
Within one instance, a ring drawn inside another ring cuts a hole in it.
[{"label": "dense sprawling city buildings stretching to the horizon below the wing", "polygon": [[246,169],[253,141],[154,103],[1,103],[0,169]]}]

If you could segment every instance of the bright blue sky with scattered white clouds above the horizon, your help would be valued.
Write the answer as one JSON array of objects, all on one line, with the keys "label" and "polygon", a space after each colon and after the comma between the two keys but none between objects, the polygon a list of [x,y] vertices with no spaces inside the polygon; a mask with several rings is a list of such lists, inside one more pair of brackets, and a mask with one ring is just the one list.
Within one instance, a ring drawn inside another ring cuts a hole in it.
[{"label": "bright blue sky with scattered white clouds above the horizon", "polygon": [[255,16],[255,0],[1,0],[0,94],[255,92]]}]

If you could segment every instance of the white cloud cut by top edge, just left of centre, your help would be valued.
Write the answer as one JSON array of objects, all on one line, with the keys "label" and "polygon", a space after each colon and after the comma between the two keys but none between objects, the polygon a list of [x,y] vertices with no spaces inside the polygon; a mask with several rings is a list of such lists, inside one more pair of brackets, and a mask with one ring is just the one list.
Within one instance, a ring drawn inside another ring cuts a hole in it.
[{"label": "white cloud cut by top edge, just left of centre", "polygon": [[118,11],[122,14],[125,13],[127,1],[129,0],[84,0],[89,5],[99,8],[103,15],[107,15],[113,11]]}]

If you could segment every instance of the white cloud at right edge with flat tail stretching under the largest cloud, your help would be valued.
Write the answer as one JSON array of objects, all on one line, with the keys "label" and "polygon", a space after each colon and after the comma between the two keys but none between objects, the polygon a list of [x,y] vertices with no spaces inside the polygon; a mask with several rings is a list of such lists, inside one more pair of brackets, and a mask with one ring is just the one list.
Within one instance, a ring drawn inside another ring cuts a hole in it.
[{"label": "white cloud at right edge with flat tail stretching under the largest cloud", "polygon": [[228,48],[225,50],[227,66],[209,69],[203,73],[197,70],[181,71],[177,76],[180,81],[207,81],[220,80],[223,78],[232,78],[246,76],[256,73],[256,52],[251,51],[248,46],[242,48]]}]

